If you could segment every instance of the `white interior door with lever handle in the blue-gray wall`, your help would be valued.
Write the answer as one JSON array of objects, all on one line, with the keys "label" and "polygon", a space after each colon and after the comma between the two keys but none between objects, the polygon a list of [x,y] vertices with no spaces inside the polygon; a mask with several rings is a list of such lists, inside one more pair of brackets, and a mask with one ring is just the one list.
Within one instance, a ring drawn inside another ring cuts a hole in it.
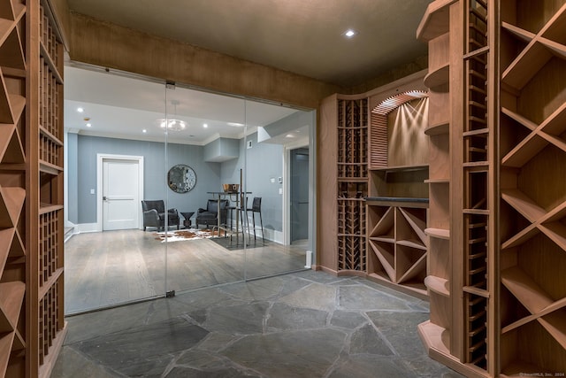
[{"label": "white interior door with lever handle in the blue-gray wall", "polygon": [[139,162],[103,159],[103,230],[138,228]]}]

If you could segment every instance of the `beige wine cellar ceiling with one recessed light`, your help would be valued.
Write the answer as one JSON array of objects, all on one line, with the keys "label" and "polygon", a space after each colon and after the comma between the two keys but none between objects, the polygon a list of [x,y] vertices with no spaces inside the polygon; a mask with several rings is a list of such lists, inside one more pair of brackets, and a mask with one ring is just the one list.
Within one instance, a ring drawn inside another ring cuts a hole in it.
[{"label": "beige wine cellar ceiling with one recessed light", "polygon": [[[67,0],[73,12],[344,87],[426,54],[430,0]],[[352,39],[342,34],[353,28]]]}]

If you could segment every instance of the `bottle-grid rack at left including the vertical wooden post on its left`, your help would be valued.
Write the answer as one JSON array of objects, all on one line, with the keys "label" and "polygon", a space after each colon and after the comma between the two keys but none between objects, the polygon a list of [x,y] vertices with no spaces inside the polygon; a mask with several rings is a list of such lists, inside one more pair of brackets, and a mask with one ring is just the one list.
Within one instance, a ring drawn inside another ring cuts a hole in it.
[{"label": "bottle-grid rack at left including the vertical wooden post on its left", "polygon": [[64,39],[48,0],[28,0],[26,28],[26,364],[50,376],[65,339]]}]

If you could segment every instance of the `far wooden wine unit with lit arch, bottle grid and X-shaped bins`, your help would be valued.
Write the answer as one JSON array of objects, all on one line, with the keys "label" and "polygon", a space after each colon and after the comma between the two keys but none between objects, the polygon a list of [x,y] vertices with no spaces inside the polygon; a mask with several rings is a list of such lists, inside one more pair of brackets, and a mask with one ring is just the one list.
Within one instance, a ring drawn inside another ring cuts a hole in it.
[{"label": "far wooden wine unit with lit arch, bottle grid and X-shaped bins", "polygon": [[[418,73],[360,95],[333,95],[321,104],[318,171],[323,174],[319,176],[317,242],[321,253],[316,266],[333,274],[369,276],[420,297],[426,297],[427,141],[421,138],[421,148],[412,158],[404,158],[397,149],[406,146],[392,146],[388,141],[413,141],[407,135],[392,137],[402,127],[390,127],[388,117],[411,112],[410,119],[417,121],[409,125],[410,137],[419,135],[417,127],[424,130],[428,95],[423,77],[424,73]],[[402,107],[411,101],[417,112]],[[367,197],[380,197],[379,203],[366,204]],[[409,198],[402,203],[399,197]],[[415,198],[420,202],[415,203]],[[391,240],[376,230],[377,214],[387,208],[396,214],[392,218],[396,234]],[[371,243],[370,237],[374,238]],[[382,243],[385,246],[379,252]]]}]

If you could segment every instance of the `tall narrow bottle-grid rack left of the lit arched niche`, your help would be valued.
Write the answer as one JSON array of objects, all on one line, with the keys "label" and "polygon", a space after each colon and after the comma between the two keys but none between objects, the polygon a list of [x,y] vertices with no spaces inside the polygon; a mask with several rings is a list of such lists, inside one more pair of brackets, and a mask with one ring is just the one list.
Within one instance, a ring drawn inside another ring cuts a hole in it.
[{"label": "tall narrow bottle-grid rack left of the lit arched niche", "polygon": [[368,100],[338,99],[338,270],[365,272]]}]

